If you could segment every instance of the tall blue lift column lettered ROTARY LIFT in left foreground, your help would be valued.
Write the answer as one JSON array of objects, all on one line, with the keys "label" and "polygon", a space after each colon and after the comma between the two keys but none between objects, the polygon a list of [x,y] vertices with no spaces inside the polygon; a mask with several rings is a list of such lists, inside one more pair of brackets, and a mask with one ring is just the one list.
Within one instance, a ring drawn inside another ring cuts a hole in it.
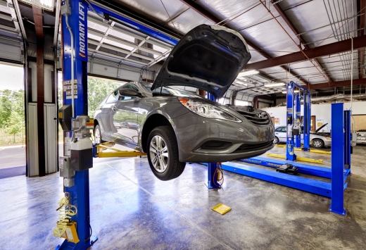
[{"label": "tall blue lift column lettered ROTARY LIFT in left foreground", "polygon": [[[65,4],[63,1],[62,4]],[[77,94],[75,94],[75,117],[87,115],[87,3],[82,0],[70,0],[71,14],[68,23],[72,29],[74,51],[71,51],[71,37],[62,18],[63,41],[63,81],[71,80],[71,53],[74,54],[74,78],[77,81]],[[72,89],[73,90],[73,89]],[[71,91],[72,91],[71,90]],[[71,104],[63,93],[63,104]],[[65,132],[65,136],[71,136],[71,132]],[[89,170],[76,171],[75,185],[65,187],[64,191],[70,193],[70,204],[77,207],[77,214],[72,220],[77,223],[77,236],[80,242],[77,244],[66,239],[56,249],[88,249],[96,239],[90,235],[90,211],[89,211]]]}]

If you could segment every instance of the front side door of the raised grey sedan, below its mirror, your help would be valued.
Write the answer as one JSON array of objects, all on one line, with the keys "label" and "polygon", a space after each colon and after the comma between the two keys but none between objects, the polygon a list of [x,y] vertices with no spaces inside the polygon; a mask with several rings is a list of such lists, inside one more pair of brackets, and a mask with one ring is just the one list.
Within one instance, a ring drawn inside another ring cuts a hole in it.
[{"label": "front side door of the raised grey sedan, below its mirror", "polygon": [[[137,89],[134,85],[124,85],[120,89]],[[137,89],[138,90],[138,89]],[[112,107],[113,132],[115,142],[134,147],[139,142],[139,101],[137,96],[122,96],[118,93]]]}]

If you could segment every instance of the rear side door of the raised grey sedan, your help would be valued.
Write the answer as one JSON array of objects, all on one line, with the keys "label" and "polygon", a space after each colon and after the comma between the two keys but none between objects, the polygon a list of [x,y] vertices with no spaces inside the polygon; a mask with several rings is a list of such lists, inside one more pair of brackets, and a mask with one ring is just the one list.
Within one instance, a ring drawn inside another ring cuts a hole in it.
[{"label": "rear side door of the raised grey sedan", "polygon": [[101,137],[107,141],[111,140],[113,123],[111,120],[112,107],[115,106],[118,91],[111,93],[105,103],[101,105],[101,111],[98,114],[98,122],[101,127]]}]

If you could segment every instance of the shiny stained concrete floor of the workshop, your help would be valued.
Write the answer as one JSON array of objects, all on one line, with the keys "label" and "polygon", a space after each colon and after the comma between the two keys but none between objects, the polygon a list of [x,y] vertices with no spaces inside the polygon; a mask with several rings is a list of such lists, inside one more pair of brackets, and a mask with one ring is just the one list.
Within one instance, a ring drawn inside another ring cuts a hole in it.
[{"label": "shiny stained concrete floor of the workshop", "polygon": [[[187,164],[179,178],[162,182],[146,158],[96,163],[92,249],[366,249],[366,146],[354,153],[346,217],[330,213],[325,197],[234,173],[225,172],[223,189],[208,190],[203,165]],[[330,155],[315,158],[329,165]],[[0,249],[60,244],[52,232],[62,191],[58,174],[0,180]],[[220,202],[232,211],[212,211]]]}]

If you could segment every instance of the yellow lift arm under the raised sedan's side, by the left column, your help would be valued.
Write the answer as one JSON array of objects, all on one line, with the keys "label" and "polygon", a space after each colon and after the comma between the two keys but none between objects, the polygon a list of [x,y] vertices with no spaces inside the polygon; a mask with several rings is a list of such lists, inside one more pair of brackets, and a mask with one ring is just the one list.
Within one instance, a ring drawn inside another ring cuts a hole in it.
[{"label": "yellow lift arm under the raised sedan's side, by the left column", "polygon": [[[106,144],[93,144],[93,157],[106,158],[106,157],[136,157],[136,156],[146,156],[146,153],[132,150],[132,151],[124,151],[120,149],[115,149],[111,144],[107,142]],[[105,151],[105,150],[110,151]]]}]

